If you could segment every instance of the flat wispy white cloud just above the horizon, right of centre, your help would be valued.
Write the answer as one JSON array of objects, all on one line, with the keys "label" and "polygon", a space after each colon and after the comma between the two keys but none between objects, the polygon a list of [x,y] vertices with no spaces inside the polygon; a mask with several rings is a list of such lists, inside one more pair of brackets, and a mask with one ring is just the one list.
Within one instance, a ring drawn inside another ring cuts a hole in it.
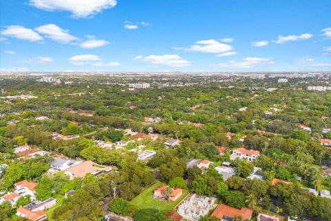
[{"label": "flat wispy white cloud just above the horizon, right of centre", "polygon": [[245,57],[242,61],[228,61],[217,64],[219,68],[253,68],[255,66],[263,66],[267,64],[275,64],[270,57]]}]

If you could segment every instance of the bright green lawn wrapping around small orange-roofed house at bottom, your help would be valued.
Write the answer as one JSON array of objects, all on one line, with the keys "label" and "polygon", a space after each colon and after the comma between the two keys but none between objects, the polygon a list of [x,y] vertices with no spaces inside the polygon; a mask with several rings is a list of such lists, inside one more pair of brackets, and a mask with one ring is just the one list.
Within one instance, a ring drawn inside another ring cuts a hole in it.
[{"label": "bright green lawn wrapping around small orange-roofed house at bottom", "polygon": [[[133,200],[131,200],[131,204],[134,206],[137,206],[138,209],[146,209],[146,208],[154,208],[164,211],[170,211],[176,206],[183,198],[185,198],[186,195],[188,195],[189,191],[184,189],[183,194],[181,197],[179,197],[176,201],[172,202],[162,202],[160,200],[155,200],[152,198],[152,195],[154,193],[154,189],[157,188],[157,186],[161,186],[163,183],[157,182],[156,184],[153,184],[152,186],[148,187],[143,193],[140,193],[135,197]],[[163,184],[164,185],[164,184]]]}]

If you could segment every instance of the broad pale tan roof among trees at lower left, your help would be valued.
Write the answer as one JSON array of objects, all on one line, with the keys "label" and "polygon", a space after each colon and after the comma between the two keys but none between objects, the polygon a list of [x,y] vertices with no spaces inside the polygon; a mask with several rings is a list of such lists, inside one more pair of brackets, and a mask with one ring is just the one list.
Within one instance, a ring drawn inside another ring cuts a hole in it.
[{"label": "broad pale tan roof among trees at lower left", "polygon": [[97,173],[99,171],[99,168],[96,166],[93,166],[93,162],[88,160],[85,162],[82,162],[81,164],[77,164],[75,166],[70,167],[66,170],[66,175],[69,175],[71,179],[74,177],[83,178],[88,173]]}]

